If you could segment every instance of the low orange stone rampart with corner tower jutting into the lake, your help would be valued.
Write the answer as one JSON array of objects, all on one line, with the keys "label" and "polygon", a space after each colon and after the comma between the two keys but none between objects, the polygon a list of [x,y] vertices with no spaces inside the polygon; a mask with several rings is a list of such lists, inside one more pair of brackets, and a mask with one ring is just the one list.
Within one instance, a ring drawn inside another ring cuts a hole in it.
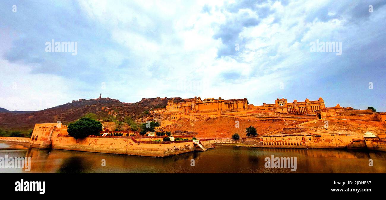
[{"label": "low orange stone rampart with corner tower jutting into the lake", "polygon": [[[154,141],[162,138],[164,137],[88,136],[75,139],[68,135],[67,127],[57,123],[46,123],[35,125],[30,138],[30,147],[155,157],[195,150],[192,140]],[[187,137],[181,136],[181,138]],[[200,141],[200,143],[205,148],[214,147],[214,140]]]}]

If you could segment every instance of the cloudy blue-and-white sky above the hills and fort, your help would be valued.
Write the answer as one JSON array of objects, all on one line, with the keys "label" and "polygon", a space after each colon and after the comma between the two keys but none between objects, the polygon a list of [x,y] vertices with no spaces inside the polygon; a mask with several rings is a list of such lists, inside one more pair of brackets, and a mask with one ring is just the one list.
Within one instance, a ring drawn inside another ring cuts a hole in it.
[{"label": "cloudy blue-and-white sky above the hills and fort", "polygon": [[[35,111],[99,94],[254,105],[321,96],[327,107],[385,112],[385,4],[3,0],[0,107]],[[76,53],[50,52],[52,40],[73,42]],[[317,41],[341,55],[314,52]]]}]

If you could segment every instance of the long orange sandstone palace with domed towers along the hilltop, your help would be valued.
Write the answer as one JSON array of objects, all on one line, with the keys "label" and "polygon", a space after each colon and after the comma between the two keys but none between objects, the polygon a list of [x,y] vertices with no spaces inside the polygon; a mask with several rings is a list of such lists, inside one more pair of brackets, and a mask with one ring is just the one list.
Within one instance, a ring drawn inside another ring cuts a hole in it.
[{"label": "long orange sandstone palace with domed towers along the hilltop", "polygon": [[[314,115],[317,118],[325,116],[346,115],[350,113],[356,114],[371,114],[371,110],[354,110],[352,107],[341,107],[337,104],[335,107],[326,107],[322,97],[318,100],[310,101],[306,98],[305,101],[288,102],[287,99],[276,99],[274,104],[263,103],[261,106],[249,104],[247,99],[229,99],[225,100],[221,97],[218,99],[207,98],[201,100],[201,97],[185,99],[185,101],[169,100],[166,108],[154,110],[155,113],[171,113],[171,119],[177,120],[181,116],[188,117],[192,115],[220,116],[222,114],[251,114],[251,113],[281,113],[284,115]],[[301,117],[301,116],[300,116]]]}]

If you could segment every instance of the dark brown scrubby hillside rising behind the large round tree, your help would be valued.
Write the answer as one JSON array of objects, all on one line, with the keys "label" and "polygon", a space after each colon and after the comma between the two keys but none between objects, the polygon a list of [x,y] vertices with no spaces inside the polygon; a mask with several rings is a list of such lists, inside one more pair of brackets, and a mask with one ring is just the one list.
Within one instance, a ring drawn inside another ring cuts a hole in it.
[{"label": "dark brown scrubby hillside rising behind the large round tree", "polygon": [[[28,130],[36,123],[54,123],[61,121],[68,124],[71,121],[81,118],[85,114],[94,113],[99,119],[120,119],[131,116],[133,119],[146,118],[146,111],[150,108],[164,108],[168,100],[172,98],[142,98],[137,103],[122,103],[117,99],[79,99],[72,103],[63,104],[41,111],[8,111],[0,110],[0,129],[6,130]],[[184,101],[175,97],[176,101]]]}]

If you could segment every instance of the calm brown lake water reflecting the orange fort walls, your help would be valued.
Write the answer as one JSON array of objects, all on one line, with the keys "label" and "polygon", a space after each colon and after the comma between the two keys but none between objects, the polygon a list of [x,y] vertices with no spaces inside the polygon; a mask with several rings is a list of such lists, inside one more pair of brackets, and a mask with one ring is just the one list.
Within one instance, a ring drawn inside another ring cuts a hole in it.
[{"label": "calm brown lake water reflecting the orange fort walls", "polygon": [[[7,145],[1,144],[1,147]],[[0,157],[31,156],[31,170],[0,173],[386,173],[386,153],[376,151],[264,149],[221,146],[167,158],[65,150],[0,150]],[[264,158],[296,157],[297,170],[265,168]],[[102,166],[102,159],[106,166]],[[191,166],[191,159],[195,166]],[[369,166],[369,159],[373,166]]]}]

